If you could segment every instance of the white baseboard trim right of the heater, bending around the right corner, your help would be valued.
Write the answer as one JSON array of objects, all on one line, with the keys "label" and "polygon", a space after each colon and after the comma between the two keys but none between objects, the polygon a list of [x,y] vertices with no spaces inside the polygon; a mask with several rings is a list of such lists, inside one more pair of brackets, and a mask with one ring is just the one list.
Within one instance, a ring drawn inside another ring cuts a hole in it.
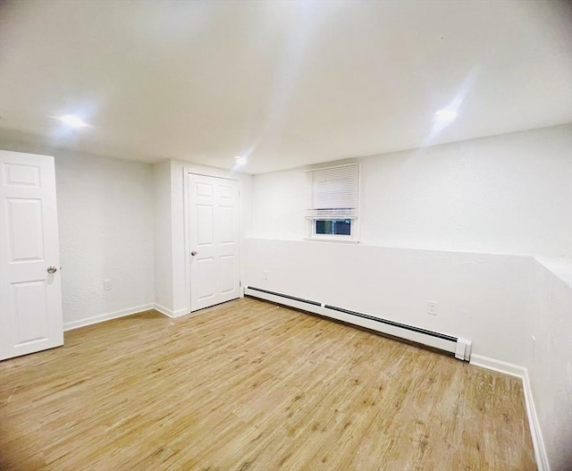
[{"label": "white baseboard trim right of the heater, bending around the right corner", "polygon": [[538,423],[538,416],[536,415],[536,408],[534,407],[533,391],[530,387],[528,370],[524,366],[512,365],[511,363],[474,354],[471,355],[470,364],[499,373],[517,376],[522,380],[522,389],[525,394],[526,416],[528,416],[528,427],[530,428],[530,434],[533,440],[536,467],[538,467],[538,471],[551,471],[548,455],[546,454],[546,447],[544,446],[543,431]]}]

